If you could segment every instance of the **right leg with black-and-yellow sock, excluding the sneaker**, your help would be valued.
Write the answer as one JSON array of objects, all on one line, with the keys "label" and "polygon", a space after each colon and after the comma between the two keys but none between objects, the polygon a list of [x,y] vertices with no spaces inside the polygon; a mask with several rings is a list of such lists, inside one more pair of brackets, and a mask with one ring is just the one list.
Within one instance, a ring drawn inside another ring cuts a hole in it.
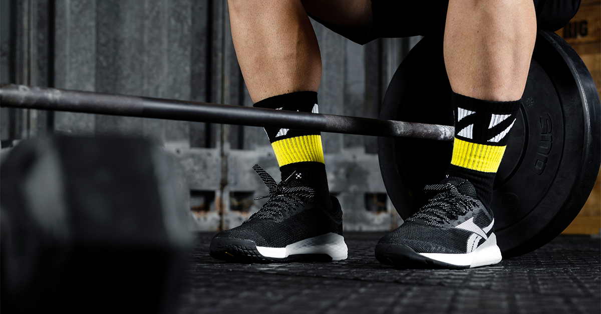
[{"label": "right leg with black-and-yellow sock, excluding the sneaker", "polygon": [[449,174],[470,180],[485,204],[519,110],[535,38],[532,0],[449,1],[444,57],[457,134]]}]

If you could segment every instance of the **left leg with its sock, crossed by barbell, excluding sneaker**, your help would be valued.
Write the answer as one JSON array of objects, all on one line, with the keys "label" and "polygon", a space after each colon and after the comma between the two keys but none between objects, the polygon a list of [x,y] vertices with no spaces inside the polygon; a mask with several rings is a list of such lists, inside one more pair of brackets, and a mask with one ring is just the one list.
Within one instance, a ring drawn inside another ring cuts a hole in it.
[{"label": "left leg with its sock, crossed by barbell, excluding sneaker", "polygon": [[[361,29],[371,24],[370,0],[230,0],[228,4],[236,55],[257,107],[317,110],[322,60],[307,11],[340,26]],[[266,131],[282,179],[302,168],[312,174],[306,179],[316,190],[317,199],[329,207],[319,132],[287,128]]]}]

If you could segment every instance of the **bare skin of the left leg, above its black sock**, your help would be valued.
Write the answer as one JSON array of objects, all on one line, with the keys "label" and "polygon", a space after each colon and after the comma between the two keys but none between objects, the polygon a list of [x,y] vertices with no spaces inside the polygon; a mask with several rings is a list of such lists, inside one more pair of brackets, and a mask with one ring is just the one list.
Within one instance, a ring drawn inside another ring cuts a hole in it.
[{"label": "bare skin of the left leg, above its black sock", "polygon": [[307,11],[341,26],[369,28],[371,1],[229,0],[231,34],[252,101],[317,91],[322,59]]}]

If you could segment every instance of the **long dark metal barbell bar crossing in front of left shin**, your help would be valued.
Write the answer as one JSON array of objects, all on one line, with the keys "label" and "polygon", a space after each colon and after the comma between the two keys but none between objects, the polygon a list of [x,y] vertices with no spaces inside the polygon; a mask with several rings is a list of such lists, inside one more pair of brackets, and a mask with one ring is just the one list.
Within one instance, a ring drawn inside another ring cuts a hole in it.
[{"label": "long dark metal barbell bar crossing in front of left shin", "polygon": [[454,127],[448,125],[13,84],[0,85],[0,106],[383,137],[412,137],[432,140],[453,140],[454,138]]}]

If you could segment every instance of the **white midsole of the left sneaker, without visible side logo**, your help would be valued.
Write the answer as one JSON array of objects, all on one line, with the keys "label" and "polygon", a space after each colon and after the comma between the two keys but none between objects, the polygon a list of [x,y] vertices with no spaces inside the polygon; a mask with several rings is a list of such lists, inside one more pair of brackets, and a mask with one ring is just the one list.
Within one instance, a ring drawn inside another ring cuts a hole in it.
[{"label": "white midsole of the left sneaker, without visible side logo", "polygon": [[288,244],[286,247],[257,246],[257,250],[268,258],[287,258],[294,254],[327,254],[332,261],[346,259],[349,251],[344,237],[332,232]]}]

